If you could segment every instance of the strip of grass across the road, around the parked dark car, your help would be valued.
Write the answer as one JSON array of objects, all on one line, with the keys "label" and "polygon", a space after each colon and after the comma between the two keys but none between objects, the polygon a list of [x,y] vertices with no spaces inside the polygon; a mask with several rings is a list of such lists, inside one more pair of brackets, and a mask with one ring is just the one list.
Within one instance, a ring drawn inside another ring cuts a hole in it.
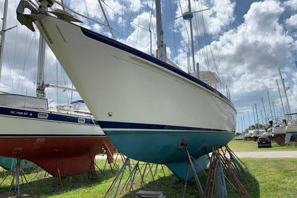
[{"label": "strip of grass across the road, around the parked dark car", "polygon": [[249,140],[232,140],[229,142],[229,147],[234,152],[249,152],[249,151],[297,151],[297,146],[287,145],[280,146],[276,142],[272,142],[272,148],[258,148],[257,142]]}]

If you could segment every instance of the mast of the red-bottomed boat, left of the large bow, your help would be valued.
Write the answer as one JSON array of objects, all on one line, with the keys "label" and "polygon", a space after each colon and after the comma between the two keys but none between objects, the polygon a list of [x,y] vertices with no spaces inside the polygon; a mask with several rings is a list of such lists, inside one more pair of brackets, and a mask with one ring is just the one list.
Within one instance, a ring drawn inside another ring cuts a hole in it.
[{"label": "mast of the red-bottomed boat, left of the large bow", "polygon": [[38,49],[38,69],[37,69],[37,87],[36,95],[39,98],[45,98],[45,40],[40,34]]}]

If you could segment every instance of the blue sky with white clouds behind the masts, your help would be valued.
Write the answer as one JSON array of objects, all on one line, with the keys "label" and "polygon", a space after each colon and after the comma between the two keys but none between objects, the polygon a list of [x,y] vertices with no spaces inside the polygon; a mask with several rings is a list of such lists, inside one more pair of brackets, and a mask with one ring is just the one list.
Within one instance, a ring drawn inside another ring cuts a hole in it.
[{"label": "blue sky with white clouds behind the masts", "polygon": [[[17,2],[10,1],[8,27],[17,24],[15,16]],[[65,2],[73,10],[105,23],[97,0],[87,0],[86,5],[81,0]],[[151,21],[152,52],[155,53],[154,31],[156,28],[152,1],[105,0],[104,2],[104,10],[109,17],[115,39],[146,53],[150,53],[148,28]],[[161,2],[168,57],[186,71],[188,22],[182,19],[172,20],[172,18],[182,15],[179,2],[184,13],[188,9],[188,1]],[[241,122],[244,117],[245,127],[247,127],[249,111],[251,124],[253,124],[252,106],[257,104],[258,110],[262,110],[262,97],[266,113],[270,112],[267,91],[270,92],[271,101],[275,103],[276,111],[279,112],[277,114],[281,115],[280,97],[275,84],[275,79],[279,80],[278,67],[282,69],[287,85],[290,86],[289,103],[291,109],[295,110],[297,107],[297,74],[294,64],[297,60],[297,0],[200,0],[191,2],[193,11],[210,8],[203,13],[196,13],[193,18],[195,60],[200,63],[203,70],[218,72],[222,85],[217,87],[221,92],[225,94],[225,85],[230,88],[232,101],[238,110],[238,122]],[[0,14],[3,15],[3,0],[0,3]],[[85,22],[83,26],[110,36],[107,28],[83,21]],[[13,87],[15,90],[21,88],[22,91],[27,89],[33,92],[37,46],[38,33],[31,33],[19,24],[18,28],[6,33],[2,87]],[[17,50],[13,53],[14,48]],[[29,52],[24,53],[24,51]],[[47,49],[47,82],[71,86],[71,82],[61,71],[54,55]],[[58,94],[54,90],[48,92],[52,97]],[[67,93],[59,94],[67,97]],[[78,98],[77,95],[76,97]],[[260,113],[259,119],[261,121]],[[238,126],[241,126],[241,123],[238,123]]]}]

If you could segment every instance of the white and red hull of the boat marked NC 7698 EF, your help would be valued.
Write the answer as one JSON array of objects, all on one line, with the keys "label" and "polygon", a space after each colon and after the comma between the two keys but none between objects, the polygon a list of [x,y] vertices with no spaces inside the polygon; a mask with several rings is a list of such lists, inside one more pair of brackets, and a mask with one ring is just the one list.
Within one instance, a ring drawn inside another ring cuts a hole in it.
[{"label": "white and red hull of the boat marked NC 7698 EF", "polygon": [[53,176],[89,172],[102,148],[112,162],[111,142],[90,117],[0,106],[0,126],[0,156],[30,160]]}]

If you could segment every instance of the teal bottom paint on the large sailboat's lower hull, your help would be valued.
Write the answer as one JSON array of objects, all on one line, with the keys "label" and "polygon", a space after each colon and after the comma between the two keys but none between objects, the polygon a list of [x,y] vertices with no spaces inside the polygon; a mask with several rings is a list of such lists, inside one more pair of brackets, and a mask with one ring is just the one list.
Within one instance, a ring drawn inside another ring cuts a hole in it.
[{"label": "teal bottom paint on the large sailboat's lower hull", "polygon": [[[200,166],[207,165],[206,154],[212,145],[225,146],[234,137],[234,133],[194,132],[194,131],[104,131],[113,145],[122,154],[148,163],[167,165],[177,178],[186,178],[188,156],[185,149],[178,146],[182,140],[189,140],[188,152],[197,159]],[[196,167],[201,172],[200,167]],[[188,178],[193,176],[191,170]]]}]

